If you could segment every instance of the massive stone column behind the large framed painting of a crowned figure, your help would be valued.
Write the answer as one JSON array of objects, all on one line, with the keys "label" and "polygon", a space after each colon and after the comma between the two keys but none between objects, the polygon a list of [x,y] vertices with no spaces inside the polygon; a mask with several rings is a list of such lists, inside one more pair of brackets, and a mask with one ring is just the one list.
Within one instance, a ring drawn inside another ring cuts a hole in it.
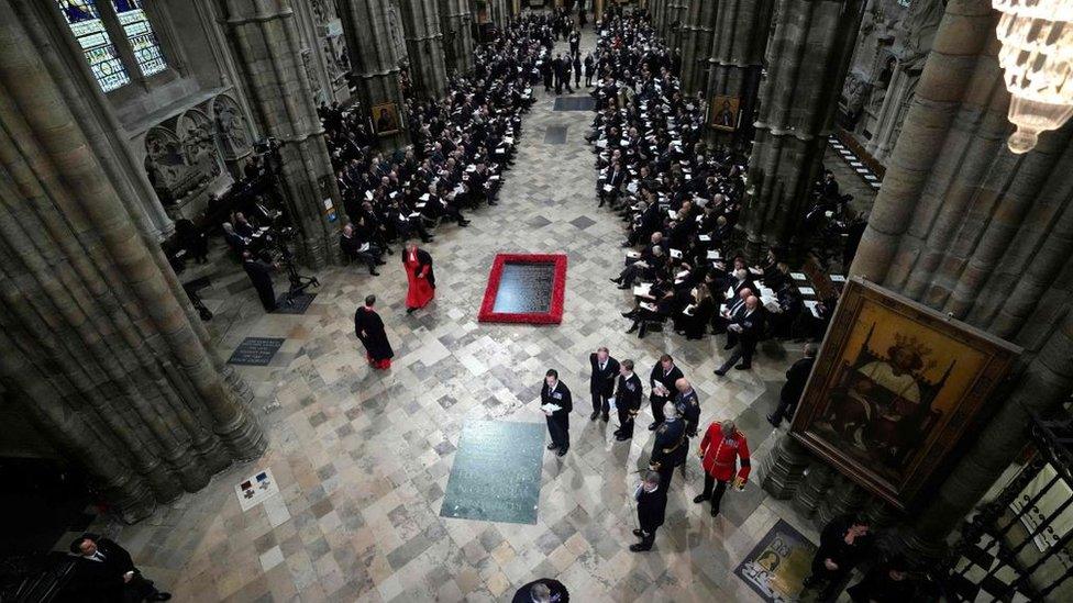
[{"label": "massive stone column behind the large framed painting of a crowned figure", "polygon": [[1025,348],[1024,371],[915,516],[936,555],[1073,390],[1073,125],[1006,147],[1009,96],[987,0],[947,4],[851,273]]}]

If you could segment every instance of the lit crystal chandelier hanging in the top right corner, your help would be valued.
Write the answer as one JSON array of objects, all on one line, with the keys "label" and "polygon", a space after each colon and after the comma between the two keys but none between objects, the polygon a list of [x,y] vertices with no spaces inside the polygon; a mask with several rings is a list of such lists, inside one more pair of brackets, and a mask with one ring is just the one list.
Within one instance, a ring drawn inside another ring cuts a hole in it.
[{"label": "lit crystal chandelier hanging in the top right corner", "polygon": [[1009,149],[1027,153],[1041,132],[1073,116],[1073,0],[992,0],[1003,13],[998,64],[1006,72]]}]

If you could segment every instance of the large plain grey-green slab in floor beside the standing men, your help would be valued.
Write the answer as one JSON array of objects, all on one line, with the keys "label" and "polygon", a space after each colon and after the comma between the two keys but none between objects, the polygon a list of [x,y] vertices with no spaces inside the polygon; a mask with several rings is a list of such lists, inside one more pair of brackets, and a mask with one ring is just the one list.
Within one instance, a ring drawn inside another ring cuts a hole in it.
[{"label": "large plain grey-green slab in floor beside the standing men", "polygon": [[466,423],[440,516],[535,524],[544,432],[543,423]]}]

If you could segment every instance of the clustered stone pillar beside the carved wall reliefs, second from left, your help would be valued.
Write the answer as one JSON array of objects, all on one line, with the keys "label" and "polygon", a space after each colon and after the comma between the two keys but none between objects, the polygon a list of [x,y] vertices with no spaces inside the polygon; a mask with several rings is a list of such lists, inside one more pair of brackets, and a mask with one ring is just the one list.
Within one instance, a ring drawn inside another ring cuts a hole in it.
[{"label": "clustered stone pillar beside the carved wall reliefs, second from left", "polygon": [[301,260],[319,268],[340,259],[339,222],[332,222],[342,198],[332,172],[324,127],[301,64],[301,41],[290,0],[219,0],[220,16],[231,33],[235,63],[261,130],[279,142],[284,198],[289,217],[301,231]]}]

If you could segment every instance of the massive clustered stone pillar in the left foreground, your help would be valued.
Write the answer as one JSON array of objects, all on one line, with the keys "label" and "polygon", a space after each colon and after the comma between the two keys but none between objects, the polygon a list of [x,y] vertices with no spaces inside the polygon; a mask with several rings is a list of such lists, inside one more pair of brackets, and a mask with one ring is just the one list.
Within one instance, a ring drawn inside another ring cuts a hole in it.
[{"label": "massive clustered stone pillar in the left foreground", "polygon": [[267,443],[151,237],[88,66],[33,4],[0,0],[0,382],[136,521]]}]

